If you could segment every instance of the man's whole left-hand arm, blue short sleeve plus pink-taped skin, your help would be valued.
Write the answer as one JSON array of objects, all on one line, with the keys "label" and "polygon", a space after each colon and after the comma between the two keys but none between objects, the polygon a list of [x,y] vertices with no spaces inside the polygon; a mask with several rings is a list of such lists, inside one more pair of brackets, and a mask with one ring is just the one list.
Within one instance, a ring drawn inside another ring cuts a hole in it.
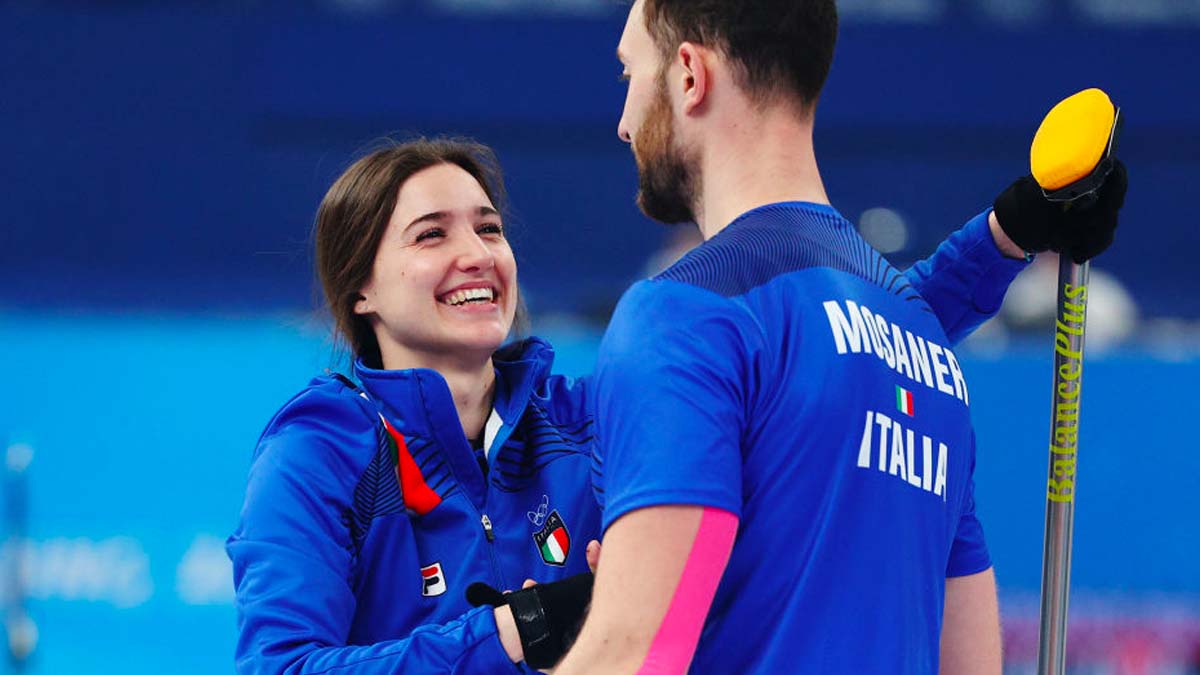
[{"label": "man's whole left-hand arm, blue short sleeve plus pink-taped skin", "polygon": [[593,605],[558,673],[683,673],[742,509],[740,437],[761,331],[688,283],[635,285],[596,358],[604,551]]}]

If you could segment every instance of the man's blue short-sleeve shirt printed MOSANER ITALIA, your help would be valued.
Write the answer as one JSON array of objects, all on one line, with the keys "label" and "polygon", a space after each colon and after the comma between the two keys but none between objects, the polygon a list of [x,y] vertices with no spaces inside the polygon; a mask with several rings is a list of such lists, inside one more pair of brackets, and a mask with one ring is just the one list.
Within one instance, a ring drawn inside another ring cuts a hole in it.
[{"label": "man's blue short-sleeve shirt printed MOSANER ITALIA", "polygon": [[946,578],[990,567],[949,345],[817,204],[749,211],[625,294],[595,381],[604,527],[740,521],[692,671],[937,673]]}]

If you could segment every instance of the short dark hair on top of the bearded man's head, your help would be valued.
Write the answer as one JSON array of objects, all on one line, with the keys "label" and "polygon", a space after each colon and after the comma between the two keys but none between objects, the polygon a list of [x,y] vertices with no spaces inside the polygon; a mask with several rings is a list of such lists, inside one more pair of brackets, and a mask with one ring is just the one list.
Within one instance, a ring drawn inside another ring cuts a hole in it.
[{"label": "short dark hair on top of the bearded man's head", "polygon": [[644,12],[665,60],[680,42],[719,49],[758,102],[794,96],[811,108],[833,65],[835,0],[646,0]]}]

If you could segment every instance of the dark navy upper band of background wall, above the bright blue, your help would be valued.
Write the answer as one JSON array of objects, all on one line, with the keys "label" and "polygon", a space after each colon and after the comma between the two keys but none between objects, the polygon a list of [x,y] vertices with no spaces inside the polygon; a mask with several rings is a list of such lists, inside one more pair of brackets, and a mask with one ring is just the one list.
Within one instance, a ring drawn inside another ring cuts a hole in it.
[{"label": "dark navy upper band of background wall, above the bright blue", "polygon": [[[390,132],[498,149],[534,310],[610,298],[659,237],[632,207],[616,139],[619,12],[31,6],[43,8],[0,10],[6,304],[302,305],[320,196]],[[1200,295],[1180,292],[1200,166],[1200,96],[1183,64],[1200,29],[967,18],[845,26],[816,138],[834,203],[852,219],[899,210],[917,233],[901,257],[924,255],[1026,171],[1054,102],[1102,85],[1126,109],[1135,181],[1103,267],[1153,316],[1200,315]]]}]

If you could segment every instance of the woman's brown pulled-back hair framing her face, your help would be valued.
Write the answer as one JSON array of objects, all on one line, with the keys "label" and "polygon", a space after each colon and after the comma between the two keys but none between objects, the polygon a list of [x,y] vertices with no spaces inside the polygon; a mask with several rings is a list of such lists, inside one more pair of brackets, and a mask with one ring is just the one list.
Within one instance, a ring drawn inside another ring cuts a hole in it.
[{"label": "woman's brown pulled-back hair framing her face", "polygon": [[463,138],[419,138],[376,150],[350,165],[317,209],[317,274],[325,303],[354,356],[373,368],[382,368],[379,342],[354,305],[371,279],[400,187],[413,174],[446,163],[473,175],[492,205],[505,211],[504,175],[496,154]]}]

